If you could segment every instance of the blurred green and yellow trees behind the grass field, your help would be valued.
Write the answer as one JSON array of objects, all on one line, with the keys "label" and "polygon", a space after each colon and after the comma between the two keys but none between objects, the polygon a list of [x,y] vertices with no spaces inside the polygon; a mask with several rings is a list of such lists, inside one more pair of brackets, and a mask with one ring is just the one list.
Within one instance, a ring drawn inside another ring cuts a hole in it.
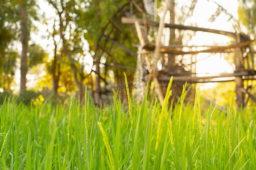
[{"label": "blurred green and yellow trees behind the grass field", "polygon": [[[163,2],[156,2],[155,5],[158,8],[156,11],[158,12],[154,14],[154,19],[159,19]],[[185,10],[185,7],[182,7],[183,3],[179,2],[180,5],[177,6],[179,11],[175,11],[173,4],[175,1],[171,2],[172,9],[170,10],[175,12],[175,15],[171,15],[170,22],[183,24],[192,16],[193,10],[189,12]],[[239,2],[239,21],[246,26],[250,35],[255,35],[254,1],[240,0]],[[93,61],[92,57],[95,57],[95,48],[99,37],[101,37],[102,29],[118,8],[125,3],[127,1],[117,0],[1,1],[0,100],[4,99],[5,94],[19,94],[19,97],[27,97],[24,95],[26,92],[21,92],[21,89],[27,90],[27,93],[30,93],[30,90],[35,90],[45,98],[48,95],[44,94],[54,92],[57,96],[63,96],[63,94],[70,95],[76,90],[80,94],[80,101],[83,101],[85,85],[90,88],[90,91],[94,91],[94,95],[97,92],[100,93],[96,90],[97,78],[100,79],[98,82],[101,81],[99,86],[102,86],[103,82],[105,83],[105,88],[102,88],[101,92],[102,96],[105,95],[105,92],[109,92],[110,87],[124,82],[122,75],[124,70],[109,65],[114,63],[116,66],[135,67],[137,65],[135,57],[127,57],[130,55],[118,45],[112,48],[112,57],[108,57],[105,52],[101,53],[102,61],[98,61],[98,63],[101,62],[100,76],[96,76],[97,61],[95,61],[96,58]],[[143,10],[147,8],[144,8],[142,3],[139,3],[139,6]],[[147,18],[152,19],[152,16],[147,15]],[[113,19],[112,22],[119,23],[119,20]],[[118,32],[117,36],[109,37],[126,46],[133,53],[137,53],[134,44],[139,44],[139,41],[134,27],[127,27],[127,25],[118,25],[118,27],[122,32]],[[115,27],[107,27],[106,35],[110,35],[113,28]],[[153,29],[150,31],[152,38],[155,36],[155,31]],[[171,41],[177,41],[176,43],[180,44],[181,37],[184,37],[185,41],[191,39],[191,33],[183,34],[184,32],[176,31],[175,33],[172,30],[169,44],[174,44]],[[102,38],[102,41],[106,41],[106,37]],[[110,44],[106,45],[106,49],[110,49]],[[233,58],[233,54],[230,54],[229,57]],[[171,61],[171,58],[174,57],[169,55],[168,61]],[[176,69],[171,66],[172,62],[162,62],[162,66],[168,68],[168,71],[175,71],[171,70]],[[130,70],[130,74],[127,74],[129,82],[135,80],[134,72],[134,70]],[[39,73],[40,75],[38,75]],[[30,80],[31,75],[36,76],[35,81]],[[131,84],[129,87],[131,90]],[[219,89],[218,91],[220,91]],[[223,91],[227,91],[225,88],[223,89]],[[254,95],[255,91],[251,93]],[[121,91],[119,91],[119,95],[122,96]],[[210,95],[216,96],[214,93]],[[30,102],[32,99],[34,97],[22,100]],[[2,102],[3,100],[0,101],[0,103]],[[225,104],[225,101],[220,103]]]}]

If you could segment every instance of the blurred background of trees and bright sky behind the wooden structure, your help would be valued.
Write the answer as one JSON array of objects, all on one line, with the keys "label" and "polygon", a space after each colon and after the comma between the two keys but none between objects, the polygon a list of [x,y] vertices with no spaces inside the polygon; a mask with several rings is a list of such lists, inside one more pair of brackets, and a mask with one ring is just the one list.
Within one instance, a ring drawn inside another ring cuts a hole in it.
[{"label": "blurred background of trees and bright sky behind the wooden structure", "polygon": [[[238,32],[239,28],[238,33],[245,33],[254,40],[255,3],[254,0],[172,0],[165,22],[227,32]],[[112,88],[115,91],[119,89],[120,99],[127,102],[123,73],[127,74],[134,96],[140,86],[136,84],[139,39],[135,26],[123,24],[121,18],[145,16],[148,20],[160,20],[164,6],[164,1],[156,0],[0,1],[0,103],[6,96],[14,96],[26,104],[46,100],[67,103],[72,95],[82,102],[85,86],[96,104],[108,104]],[[137,11],[142,9],[144,13],[137,14],[135,8]],[[148,28],[148,41],[155,42],[156,33],[156,28]],[[200,46],[203,50],[204,46],[231,45],[235,41],[232,37],[213,33],[172,31],[168,28],[164,28],[161,40],[166,46],[183,45],[186,51],[200,50]],[[117,46],[113,47],[110,42]],[[255,42],[251,44],[250,51],[251,64],[254,65]],[[171,62],[166,58],[163,54],[158,62],[159,74],[166,70],[172,73],[168,75],[180,73],[179,69],[166,69]],[[194,76],[232,74],[236,70],[231,52],[199,53],[191,63],[186,63],[185,55],[174,58],[172,63],[180,66],[183,72],[192,70],[189,75]],[[235,83],[231,79],[222,81],[191,83],[191,89],[200,87],[206,101],[224,107]],[[250,94],[255,96],[253,80],[249,81],[249,86]],[[179,96],[177,88],[174,97],[178,99]],[[248,105],[255,104],[248,100]]]}]

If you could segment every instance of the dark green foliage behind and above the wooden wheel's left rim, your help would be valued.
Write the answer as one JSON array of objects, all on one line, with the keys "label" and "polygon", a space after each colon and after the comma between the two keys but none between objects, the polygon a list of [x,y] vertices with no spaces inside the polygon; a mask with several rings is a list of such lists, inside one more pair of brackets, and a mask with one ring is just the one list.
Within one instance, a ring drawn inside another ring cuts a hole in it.
[{"label": "dark green foliage behind and above the wooden wheel's left rim", "polygon": [[[84,12],[84,29],[86,29],[86,33],[84,35],[85,39],[88,41],[90,45],[90,49],[94,50],[94,47],[101,36],[101,31],[105,27],[105,25],[109,22],[109,19],[112,18],[114,12],[118,10],[119,7],[124,5],[126,1],[117,1],[117,0],[107,0],[107,1],[93,1],[88,3],[88,6],[85,6]],[[119,15],[119,14],[118,14]],[[118,18],[118,17],[117,17]],[[138,37],[135,29],[132,26],[120,24],[120,20],[113,20],[113,22],[117,23],[118,26],[122,29],[122,33],[117,32],[116,29],[112,32],[110,38],[119,42],[123,46],[126,46],[128,49],[133,50],[134,53],[137,52],[137,49],[134,48],[134,44],[138,44]],[[104,34],[108,35],[112,31],[112,24],[109,24],[106,27]],[[102,37],[101,42],[105,42],[106,37]],[[131,43],[133,42],[133,43]],[[125,65],[134,67],[136,64],[136,58],[131,57],[130,54],[125,52],[122,48],[117,45],[114,45],[111,48],[111,43],[106,44],[106,49],[111,49],[111,53],[113,57],[107,57],[107,63],[116,63],[118,65]],[[129,56],[129,57],[127,57]],[[118,71],[118,75],[123,74],[123,70],[115,69]]]}]

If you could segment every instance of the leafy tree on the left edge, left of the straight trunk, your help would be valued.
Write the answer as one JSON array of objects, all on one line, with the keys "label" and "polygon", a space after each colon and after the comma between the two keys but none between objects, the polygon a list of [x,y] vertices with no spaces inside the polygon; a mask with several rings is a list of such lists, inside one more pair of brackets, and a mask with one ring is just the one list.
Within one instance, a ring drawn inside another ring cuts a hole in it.
[{"label": "leafy tree on the left edge, left of the straight trunk", "polygon": [[11,91],[10,86],[15,74],[18,53],[14,41],[18,37],[16,22],[18,21],[18,7],[13,1],[0,2],[0,88]]}]

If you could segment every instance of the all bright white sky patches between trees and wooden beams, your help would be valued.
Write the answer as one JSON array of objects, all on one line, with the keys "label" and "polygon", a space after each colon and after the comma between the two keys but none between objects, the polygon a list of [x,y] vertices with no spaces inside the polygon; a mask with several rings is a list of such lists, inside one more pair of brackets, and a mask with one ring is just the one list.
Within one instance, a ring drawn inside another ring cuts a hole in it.
[{"label": "all bright white sky patches between trees and wooden beams", "polygon": [[[230,14],[234,16],[235,19],[238,19],[237,8],[238,8],[238,1],[237,0],[215,0],[221,6],[223,6]],[[47,31],[52,32],[52,25],[55,15],[55,9],[53,9],[46,1],[38,1],[40,10],[38,11],[40,15],[45,15],[47,22],[49,23],[48,26],[40,24],[39,22],[34,22],[35,26],[38,27],[37,33],[31,33],[32,41],[39,43],[43,49],[49,53],[49,58],[53,57],[53,43],[52,39],[47,39]],[[191,0],[183,0],[177,1],[176,0],[176,8],[178,10],[181,6],[190,6]],[[227,22],[228,18],[224,14],[220,14],[215,20],[215,22],[211,23],[208,22],[209,17],[214,14],[216,11],[217,6],[210,0],[198,0],[195,10],[193,12],[193,16],[191,16],[188,20],[186,20],[185,24],[187,25],[197,25],[198,27],[204,28],[213,28],[213,29],[222,29],[226,31],[232,31],[232,24]],[[59,37],[56,37],[59,40]],[[187,45],[226,45],[230,42],[229,37],[216,35],[212,33],[203,33],[203,32],[196,32],[196,35],[192,37],[191,40],[187,42]],[[85,43],[86,44],[86,43]],[[21,49],[20,49],[21,51]],[[197,55],[197,59],[205,58],[209,54],[199,54]],[[92,57],[90,55],[86,56],[86,62],[89,63],[89,66],[86,67],[86,70],[90,70],[92,67]],[[43,69],[43,66],[40,69]],[[226,60],[221,57],[219,54],[215,54],[212,57],[207,59],[203,59],[196,65],[196,72],[197,73],[231,73],[234,70],[234,66],[230,66]],[[27,79],[28,87],[34,87],[35,83],[40,80],[40,78],[46,74],[45,70],[40,71],[38,75],[33,75],[28,73]],[[204,76],[204,74],[201,74]],[[19,84],[19,69],[17,69],[17,73],[15,75],[16,84]],[[209,83],[202,88],[214,87],[216,83]]]}]

